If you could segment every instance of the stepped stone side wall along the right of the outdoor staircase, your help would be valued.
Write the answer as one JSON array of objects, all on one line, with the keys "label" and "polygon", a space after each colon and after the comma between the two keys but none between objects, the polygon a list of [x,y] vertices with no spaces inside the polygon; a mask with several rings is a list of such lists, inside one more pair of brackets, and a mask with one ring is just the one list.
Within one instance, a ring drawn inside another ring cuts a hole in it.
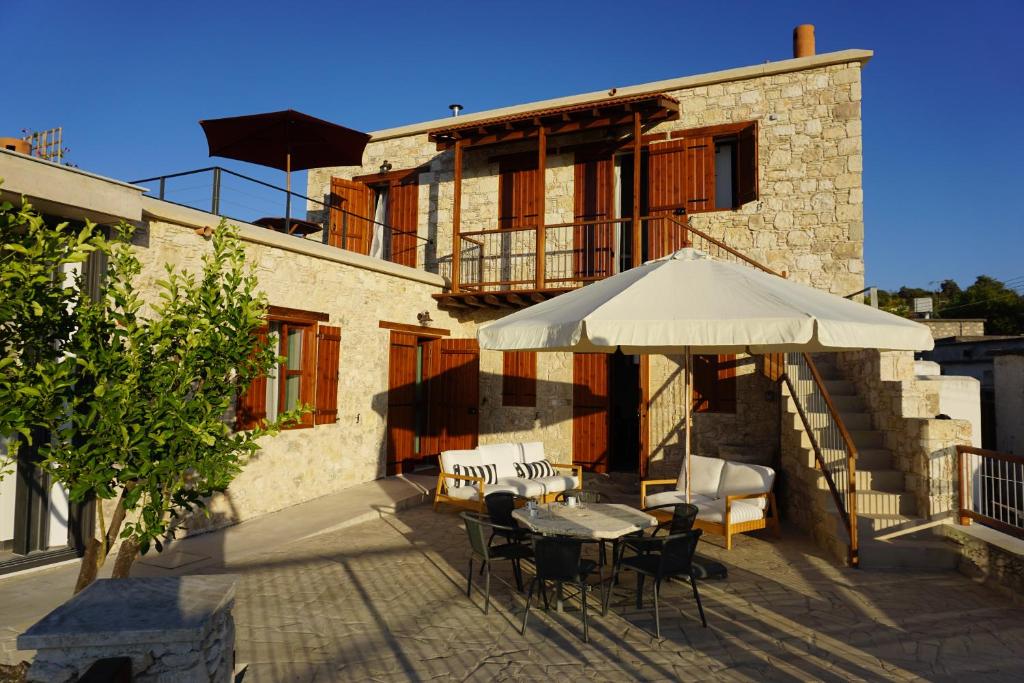
[{"label": "stepped stone side wall along the right of the outdoor staircase", "polygon": [[893,455],[893,467],[906,476],[918,514],[936,519],[956,509],[957,444],[971,444],[971,423],[940,420],[934,383],[918,381],[910,351],[852,351],[838,355],[846,377],[857,387],[877,430]]}]

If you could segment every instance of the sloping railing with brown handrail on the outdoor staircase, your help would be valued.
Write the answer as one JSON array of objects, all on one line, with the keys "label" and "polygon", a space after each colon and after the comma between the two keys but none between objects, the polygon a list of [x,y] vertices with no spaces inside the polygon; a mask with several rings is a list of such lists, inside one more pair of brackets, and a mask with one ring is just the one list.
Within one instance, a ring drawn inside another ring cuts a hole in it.
[{"label": "sloping railing with brown handrail on the outdoor staircase", "polygon": [[850,565],[857,566],[857,446],[810,355],[786,353],[781,380],[790,388],[814,461],[844,521]]}]

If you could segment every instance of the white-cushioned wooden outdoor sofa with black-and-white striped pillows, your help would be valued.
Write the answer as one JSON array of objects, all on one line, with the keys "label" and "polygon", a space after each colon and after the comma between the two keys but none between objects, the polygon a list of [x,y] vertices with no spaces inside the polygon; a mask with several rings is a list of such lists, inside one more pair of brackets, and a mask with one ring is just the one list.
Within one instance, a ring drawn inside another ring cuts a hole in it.
[{"label": "white-cushioned wooden outdoor sofa with black-and-white striped pillows", "polygon": [[583,468],[548,462],[540,441],[444,451],[439,464],[434,510],[446,503],[484,512],[484,497],[497,492],[547,503],[563,490],[583,487]]}]

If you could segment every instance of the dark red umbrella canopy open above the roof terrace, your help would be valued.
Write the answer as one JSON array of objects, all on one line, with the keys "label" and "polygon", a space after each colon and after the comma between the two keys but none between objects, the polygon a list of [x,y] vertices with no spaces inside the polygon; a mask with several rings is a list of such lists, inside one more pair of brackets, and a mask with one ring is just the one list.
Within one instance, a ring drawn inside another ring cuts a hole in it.
[{"label": "dark red umbrella canopy open above the roof terrace", "polygon": [[357,166],[370,135],[295,110],[200,121],[211,157],[282,171]]}]

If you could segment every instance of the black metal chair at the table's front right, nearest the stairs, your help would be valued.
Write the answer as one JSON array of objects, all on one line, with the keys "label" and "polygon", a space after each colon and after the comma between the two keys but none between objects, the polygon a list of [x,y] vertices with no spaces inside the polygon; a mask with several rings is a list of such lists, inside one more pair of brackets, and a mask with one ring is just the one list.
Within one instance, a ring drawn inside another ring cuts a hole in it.
[{"label": "black metal chair at the table's front right, nearest the stairs", "polygon": [[693,598],[700,612],[700,623],[708,628],[703,605],[700,604],[700,592],[697,590],[697,580],[693,574],[693,555],[700,540],[701,529],[691,529],[682,533],[666,537],[647,538],[645,552],[626,557],[615,566],[615,578],[621,569],[632,569],[637,572],[637,609],[643,608],[644,579],[650,577],[654,585],[654,636],[662,637],[662,618],[658,609],[658,596],[662,582],[666,579],[686,577],[693,589]]}]

